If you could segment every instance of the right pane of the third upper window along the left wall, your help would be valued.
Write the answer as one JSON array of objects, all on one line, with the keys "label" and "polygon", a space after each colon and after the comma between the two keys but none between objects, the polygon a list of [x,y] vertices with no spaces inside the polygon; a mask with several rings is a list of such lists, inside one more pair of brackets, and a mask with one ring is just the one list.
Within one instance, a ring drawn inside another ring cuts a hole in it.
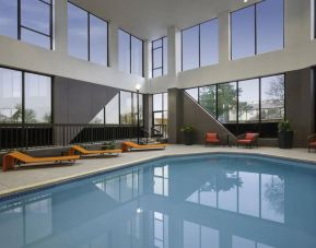
[{"label": "right pane of the third upper window along the left wall", "polygon": [[131,36],[131,73],[142,76],[142,40]]}]

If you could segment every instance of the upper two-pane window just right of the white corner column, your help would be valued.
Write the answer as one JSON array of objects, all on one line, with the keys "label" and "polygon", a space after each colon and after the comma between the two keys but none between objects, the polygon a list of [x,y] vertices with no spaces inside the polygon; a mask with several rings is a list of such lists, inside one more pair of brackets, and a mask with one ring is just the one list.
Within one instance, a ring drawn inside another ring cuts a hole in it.
[{"label": "upper two-pane window just right of the white corner column", "polygon": [[182,31],[183,71],[219,62],[219,20]]}]

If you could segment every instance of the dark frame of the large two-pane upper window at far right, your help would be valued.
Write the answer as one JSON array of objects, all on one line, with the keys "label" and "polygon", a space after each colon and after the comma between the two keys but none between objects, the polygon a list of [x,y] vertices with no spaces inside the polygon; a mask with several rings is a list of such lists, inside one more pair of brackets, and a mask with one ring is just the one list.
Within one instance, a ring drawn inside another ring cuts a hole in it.
[{"label": "dark frame of the large two-pane upper window at far right", "polygon": [[[262,3],[262,2],[265,2],[265,1],[267,1],[267,0],[261,0],[261,1],[259,1],[259,2],[256,2],[256,3],[253,3],[253,4],[249,4],[249,5],[247,5],[247,7],[244,7],[244,8],[241,8],[241,9],[238,9],[238,10],[235,10],[235,11],[232,11],[232,12],[230,12],[230,59],[231,59],[231,61],[235,61],[235,60],[239,60],[239,59],[245,59],[245,58],[249,58],[249,57],[254,57],[254,56],[257,56],[257,55],[265,55],[265,54],[267,54],[267,52],[273,52],[273,51],[278,51],[278,50],[284,50],[284,48],[285,48],[285,0],[282,0],[282,3],[283,3],[283,11],[282,11],[282,15],[283,15],[283,20],[282,20],[282,22],[283,22],[283,28],[282,28],[282,44],[283,44],[283,46],[282,46],[282,48],[280,48],[280,49],[277,49],[277,50],[271,50],[271,51],[265,51],[265,52],[260,52],[260,54],[258,54],[258,44],[257,44],[257,40],[258,40],[258,37],[257,37],[257,29],[258,29],[258,26],[257,26],[257,10],[258,10],[258,8],[257,8],[257,5],[258,4],[260,4],[260,3]],[[316,1],[315,1],[316,2]],[[237,59],[233,59],[233,35],[232,35],[232,26],[233,26],[233,19],[232,19],[232,14],[233,13],[235,13],[235,12],[237,12],[237,11],[241,11],[241,10],[244,10],[244,9],[247,9],[247,8],[249,8],[249,7],[253,7],[254,5],[254,11],[255,11],[255,16],[254,16],[254,22],[255,22],[255,54],[254,54],[254,56],[247,56],[247,57],[244,57],[244,58],[237,58]],[[316,12],[316,7],[315,7],[315,12]],[[316,19],[315,19],[315,23],[316,23]],[[315,28],[315,31],[316,31],[316,26],[314,27]],[[315,37],[316,37],[316,35],[315,35]],[[282,73],[281,73],[282,74]]]}]

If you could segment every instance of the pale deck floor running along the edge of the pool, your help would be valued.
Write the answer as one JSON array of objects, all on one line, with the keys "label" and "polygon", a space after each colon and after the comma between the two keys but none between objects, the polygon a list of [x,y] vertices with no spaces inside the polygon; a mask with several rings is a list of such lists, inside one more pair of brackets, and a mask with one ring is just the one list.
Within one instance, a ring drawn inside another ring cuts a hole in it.
[{"label": "pale deck floor running along the edge of the pool", "polygon": [[44,185],[50,185],[86,174],[107,170],[127,164],[160,157],[164,155],[207,153],[207,152],[238,152],[282,156],[316,162],[316,153],[306,149],[280,150],[274,147],[237,149],[237,147],[204,147],[202,145],[168,145],[166,150],[122,153],[118,157],[93,157],[79,161],[74,165],[24,166],[0,173],[0,196]]}]

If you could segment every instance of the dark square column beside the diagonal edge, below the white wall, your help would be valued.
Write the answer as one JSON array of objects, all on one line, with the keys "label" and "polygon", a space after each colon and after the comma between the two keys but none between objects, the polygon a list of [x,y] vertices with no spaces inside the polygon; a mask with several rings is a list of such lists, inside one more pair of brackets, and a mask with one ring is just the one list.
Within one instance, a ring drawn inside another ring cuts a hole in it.
[{"label": "dark square column beside the diagonal edge, below the white wall", "polygon": [[183,91],[168,90],[168,142],[180,143],[180,127],[183,126]]}]

